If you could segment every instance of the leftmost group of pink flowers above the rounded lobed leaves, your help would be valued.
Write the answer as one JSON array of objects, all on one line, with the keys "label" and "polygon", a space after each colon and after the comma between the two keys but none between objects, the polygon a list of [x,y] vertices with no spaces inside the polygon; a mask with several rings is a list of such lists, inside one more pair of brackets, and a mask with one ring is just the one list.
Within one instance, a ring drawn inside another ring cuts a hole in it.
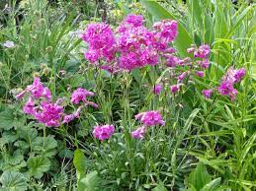
[{"label": "leftmost group of pink flowers above the rounded lobed leaves", "polygon": [[[35,117],[40,123],[47,127],[58,127],[61,123],[68,123],[71,120],[78,118],[81,109],[84,105],[78,107],[72,114],[65,114],[64,108],[60,105],[62,98],[57,99],[55,102],[51,99],[51,94],[48,88],[43,87],[40,78],[35,78],[34,83],[26,88],[21,94],[16,96],[20,99],[26,95],[29,98],[23,106],[23,111]],[[94,94],[85,90],[77,89],[73,92],[71,102],[78,104],[83,101],[85,105],[97,105],[86,99],[86,96],[93,96]]]}]

